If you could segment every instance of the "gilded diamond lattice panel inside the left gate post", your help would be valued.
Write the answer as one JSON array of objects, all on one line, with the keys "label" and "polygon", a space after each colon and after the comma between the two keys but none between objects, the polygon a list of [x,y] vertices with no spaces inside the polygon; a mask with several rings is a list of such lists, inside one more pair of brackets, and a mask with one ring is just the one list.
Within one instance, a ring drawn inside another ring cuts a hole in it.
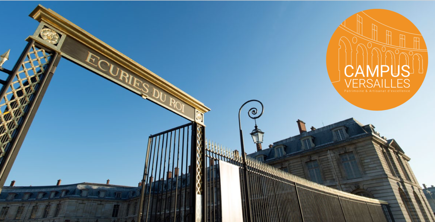
[{"label": "gilded diamond lattice panel inside the left gate post", "polygon": [[42,75],[45,73],[52,54],[32,45],[27,52],[19,71],[13,76],[13,82],[0,100],[0,162],[3,161],[8,144],[15,136],[22,117],[28,111],[28,105],[37,91]]}]

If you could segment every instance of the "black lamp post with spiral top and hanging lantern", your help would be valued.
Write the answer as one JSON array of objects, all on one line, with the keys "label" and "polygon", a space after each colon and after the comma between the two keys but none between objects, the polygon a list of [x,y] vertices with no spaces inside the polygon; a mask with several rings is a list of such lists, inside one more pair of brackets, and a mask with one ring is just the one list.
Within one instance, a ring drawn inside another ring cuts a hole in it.
[{"label": "black lamp post with spiral top and hanging lantern", "polygon": [[243,180],[244,180],[244,195],[245,195],[245,204],[246,204],[246,218],[248,219],[248,222],[251,222],[251,204],[249,201],[249,190],[248,190],[248,168],[246,166],[246,156],[245,156],[245,151],[244,151],[244,142],[243,142],[243,132],[242,132],[242,127],[241,127],[241,123],[240,123],[240,113],[241,110],[243,108],[244,105],[246,105],[247,103],[250,102],[258,102],[261,104],[261,113],[258,116],[251,116],[252,115],[257,115],[258,113],[258,109],[257,108],[251,108],[248,111],[248,116],[251,119],[254,119],[255,121],[255,128],[254,130],[252,130],[251,136],[252,139],[254,140],[254,143],[256,144],[260,144],[263,142],[263,132],[258,129],[257,127],[257,118],[260,117],[261,115],[263,115],[263,111],[264,111],[264,107],[263,107],[263,103],[261,103],[260,101],[256,100],[256,99],[251,99],[249,101],[247,101],[246,103],[243,103],[243,105],[240,107],[239,109],[239,130],[240,130],[240,146],[241,146],[241,150],[242,150],[242,161],[243,161]]}]

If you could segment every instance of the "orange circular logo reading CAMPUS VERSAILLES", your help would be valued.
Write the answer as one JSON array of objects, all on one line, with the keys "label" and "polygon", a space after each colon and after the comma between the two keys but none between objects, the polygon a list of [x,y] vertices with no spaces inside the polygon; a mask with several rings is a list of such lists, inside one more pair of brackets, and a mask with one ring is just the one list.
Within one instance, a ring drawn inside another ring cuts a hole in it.
[{"label": "orange circular logo reading CAMPUS VERSAILLES", "polygon": [[371,9],[338,26],[329,41],[326,67],[332,85],[349,103],[386,110],[418,91],[428,68],[428,50],[407,18]]}]

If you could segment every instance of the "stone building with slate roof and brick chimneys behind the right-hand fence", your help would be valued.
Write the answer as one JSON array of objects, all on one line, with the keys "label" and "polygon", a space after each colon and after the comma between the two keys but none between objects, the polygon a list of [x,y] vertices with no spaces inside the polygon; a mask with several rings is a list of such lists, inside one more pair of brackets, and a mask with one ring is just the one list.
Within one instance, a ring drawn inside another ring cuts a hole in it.
[{"label": "stone building with slate roof and brick chimneys behind the right-hand fence", "polygon": [[429,203],[395,139],[356,119],[307,131],[258,147],[248,156],[295,176],[353,194],[385,200],[395,222],[434,222]]}]

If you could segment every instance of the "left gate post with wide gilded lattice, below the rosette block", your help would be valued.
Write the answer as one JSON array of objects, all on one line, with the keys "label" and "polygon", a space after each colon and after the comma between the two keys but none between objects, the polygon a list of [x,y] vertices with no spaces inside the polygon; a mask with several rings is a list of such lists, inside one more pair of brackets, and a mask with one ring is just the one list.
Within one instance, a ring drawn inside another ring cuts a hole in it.
[{"label": "left gate post with wide gilded lattice, below the rosette block", "polygon": [[30,40],[0,91],[0,192],[60,56]]}]

